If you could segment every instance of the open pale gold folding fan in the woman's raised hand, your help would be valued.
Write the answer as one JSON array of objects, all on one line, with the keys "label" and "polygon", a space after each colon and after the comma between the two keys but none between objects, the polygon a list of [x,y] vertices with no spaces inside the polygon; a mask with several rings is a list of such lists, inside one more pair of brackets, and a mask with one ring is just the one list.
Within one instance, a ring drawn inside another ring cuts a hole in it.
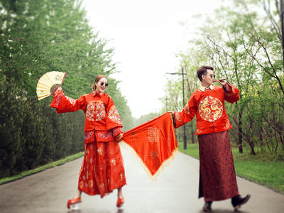
[{"label": "open pale gold folding fan in the woman's raised hand", "polygon": [[67,72],[52,71],[46,72],[45,75],[40,77],[36,86],[38,100],[50,96],[58,87],[61,87],[66,75]]}]

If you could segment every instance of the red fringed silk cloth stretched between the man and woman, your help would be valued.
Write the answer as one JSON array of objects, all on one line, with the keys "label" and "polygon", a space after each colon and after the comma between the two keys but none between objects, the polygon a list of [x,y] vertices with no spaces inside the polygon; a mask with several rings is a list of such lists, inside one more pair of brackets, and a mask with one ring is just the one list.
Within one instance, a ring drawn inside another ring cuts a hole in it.
[{"label": "red fringed silk cloth stretched between the man and woman", "polygon": [[178,151],[170,113],[126,131],[124,142],[135,151],[152,176]]}]

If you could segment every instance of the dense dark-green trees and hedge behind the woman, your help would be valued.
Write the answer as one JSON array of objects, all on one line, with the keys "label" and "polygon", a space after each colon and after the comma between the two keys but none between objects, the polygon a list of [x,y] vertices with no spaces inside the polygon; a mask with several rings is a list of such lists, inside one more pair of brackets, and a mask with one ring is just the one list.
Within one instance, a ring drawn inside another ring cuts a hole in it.
[{"label": "dense dark-green trees and hedge behind the woman", "polygon": [[[0,1],[0,177],[82,151],[84,114],[55,114],[51,97],[38,102],[38,79],[67,72],[63,90],[79,98],[98,74],[115,72],[112,49],[89,27],[81,1]],[[116,80],[108,93],[126,128],[131,112]]]}]

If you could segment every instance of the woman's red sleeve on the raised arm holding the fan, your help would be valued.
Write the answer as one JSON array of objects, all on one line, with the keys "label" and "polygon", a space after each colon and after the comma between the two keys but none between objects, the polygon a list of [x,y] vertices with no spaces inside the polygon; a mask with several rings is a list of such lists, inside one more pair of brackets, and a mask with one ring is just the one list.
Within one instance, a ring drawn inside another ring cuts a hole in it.
[{"label": "woman's red sleeve on the raised arm holding the fan", "polygon": [[81,96],[80,99],[72,99],[65,96],[62,89],[59,88],[53,95],[53,101],[50,107],[56,109],[56,113],[64,113],[70,111],[77,111],[79,109],[84,109],[85,107],[85,97]]}]

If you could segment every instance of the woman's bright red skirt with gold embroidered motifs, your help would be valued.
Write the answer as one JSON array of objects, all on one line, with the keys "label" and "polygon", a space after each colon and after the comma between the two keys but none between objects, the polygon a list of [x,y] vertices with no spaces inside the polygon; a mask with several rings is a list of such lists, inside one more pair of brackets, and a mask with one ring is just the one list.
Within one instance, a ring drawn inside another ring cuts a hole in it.
[{"label": "woman's bright red skirt with gold embroidered motifs", "polygon": [[119,143],[92,142],[85,144],[78,190],[87,195],[104,195],[126,185],[124,161]]}]

